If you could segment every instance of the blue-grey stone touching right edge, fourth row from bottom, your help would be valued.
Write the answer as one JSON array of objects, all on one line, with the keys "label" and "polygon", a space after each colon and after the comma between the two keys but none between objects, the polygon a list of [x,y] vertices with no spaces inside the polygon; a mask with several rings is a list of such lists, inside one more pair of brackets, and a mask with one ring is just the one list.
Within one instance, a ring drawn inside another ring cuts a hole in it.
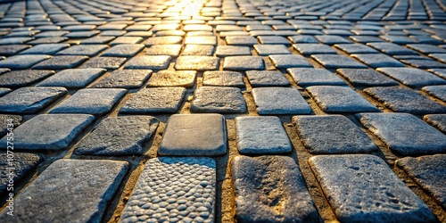
[{"label": "blue-grey stone touching right edge, fourth row from bottom", "polygon": [[409,87],[446,84],[446,80],[425,70],[415,68],[378,68],[376,70],[399,80],[402,84]]}]

